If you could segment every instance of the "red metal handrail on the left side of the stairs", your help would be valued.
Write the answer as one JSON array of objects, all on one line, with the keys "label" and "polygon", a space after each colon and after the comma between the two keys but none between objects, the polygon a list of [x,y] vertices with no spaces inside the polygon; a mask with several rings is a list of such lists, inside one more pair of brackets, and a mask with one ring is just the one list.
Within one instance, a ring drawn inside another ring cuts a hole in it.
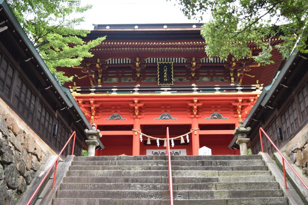
[{"label": "red metal handrail on the left side of the stairs", "polygon": [[56,174],[57,174],[57,167],[58,167],[59,157],[60,157],[60,155],[62,154],[62,152],[64,151],[64,149],[66,148],[67,144],[70,142],[70,140],[72,139],[73,136],[74,136],[74,139],[73,139],[73,146],[72,146],[72,155],[74,155],[75,138],[76,138],[76,132],[75,131],[71,134],[70,138],[67,140],[67,142],[64,145],[64,147],[62,148],[61,152],[59,153],[59,155],[55,159],[54,163],[52,163],[51,167],[49,168],[49,170],[47,171],[47,173],[43,177],[42,181],[39,183],[39,186],[35,189],[34,193],[31,195],[31,197],[28,200],[28,202],[26,203],[26,205],[30,205],[31,204],[31,201],[33,200],[34,196],[37,194],[37,192],[39,191],[39,188],[42,186],[42,184],[45,181],[45,179],[47,178],[48,174],[50,173],[50,171],[52,170],[52,168],[56,164],[55,165],[54,180],[53,180],[53,183],[52,183],[52,188],[53,189],[55,188],[55,179],[56,179]]}]

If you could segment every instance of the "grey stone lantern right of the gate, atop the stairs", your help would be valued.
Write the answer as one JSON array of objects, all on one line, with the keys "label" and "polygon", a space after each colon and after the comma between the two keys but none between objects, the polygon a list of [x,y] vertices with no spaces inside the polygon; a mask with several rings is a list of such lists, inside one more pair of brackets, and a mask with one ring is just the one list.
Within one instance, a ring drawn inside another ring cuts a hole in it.
[{"label": "grey stone lantern right of the gate, atop the stairs", "polygon": [[235,128],[233,135],[237,136],[236,144],[240,146],[241,155],[248,155],[247,144],[249,143],[249,138],[247,134],[251,131],[250,127],[245,128],[243,123],[240,122],[240,125]]}]

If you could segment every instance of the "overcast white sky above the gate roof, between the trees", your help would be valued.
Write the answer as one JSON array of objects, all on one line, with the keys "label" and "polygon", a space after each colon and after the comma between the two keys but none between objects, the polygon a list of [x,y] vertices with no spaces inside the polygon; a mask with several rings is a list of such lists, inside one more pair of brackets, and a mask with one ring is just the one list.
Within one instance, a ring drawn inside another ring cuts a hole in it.
[{"label": "overcast white sky above the gate roof, between the trees", "polygon": [[83,13],[85,22],[78,29],[93,30],[92,24],[198,23],[185,17],[175,0],[81,1],[93,6]]}]

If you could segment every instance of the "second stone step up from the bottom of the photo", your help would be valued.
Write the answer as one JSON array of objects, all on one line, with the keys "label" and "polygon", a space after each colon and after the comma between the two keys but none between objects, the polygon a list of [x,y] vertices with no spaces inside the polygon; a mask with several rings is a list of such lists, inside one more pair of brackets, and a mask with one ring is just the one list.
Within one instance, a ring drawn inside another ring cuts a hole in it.
[{"label": "second stone step up from the bottom of the photo", "polygon": [[[242,193],[244,192],[244,193]],[[111,199],[169,199],[169,191],[136,190],[58,190],[56,198],[111,198]],[[228,199],[245,196],[246,198],[281,197],[282,190],[207,190],[173,191],[174,199]],[[188,198],[189,196],[189,198]],[[243,202],[243,201],[242,201]],[[262,203],[256,203],[262,204]]]}]

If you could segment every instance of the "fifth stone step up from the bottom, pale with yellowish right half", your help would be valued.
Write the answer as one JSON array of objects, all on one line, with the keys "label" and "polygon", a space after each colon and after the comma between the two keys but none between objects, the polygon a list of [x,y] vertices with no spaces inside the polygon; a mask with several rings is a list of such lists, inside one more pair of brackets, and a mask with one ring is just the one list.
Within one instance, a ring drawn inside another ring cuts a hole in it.
[{"label": "fifth stone step up from the bottom, pale with yellowish right half", "polygon": [[[198,171],[198,170],[174,170],[174,177],[217,177],[217,176],[254,176],[271,175],[270,171]],[[67,171],[67,176],[74,177],[107,177],[107,176],[164,176],[168,177],[167,170],[88,170],[88,171]]]}]

